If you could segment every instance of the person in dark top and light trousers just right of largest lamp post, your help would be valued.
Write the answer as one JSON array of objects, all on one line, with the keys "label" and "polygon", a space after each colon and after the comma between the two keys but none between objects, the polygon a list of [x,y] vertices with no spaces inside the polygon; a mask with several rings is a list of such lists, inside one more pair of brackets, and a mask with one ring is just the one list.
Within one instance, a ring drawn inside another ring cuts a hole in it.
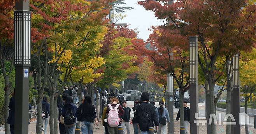
[{"label": "person in dark top and light trousers just right of largest lamp post", "polygon": [[42,118],[44,122],[44,134],[47,132],[47,125],[49,122],[50,104],[47,102],[47,97],[44,96],[42,100]]}]

